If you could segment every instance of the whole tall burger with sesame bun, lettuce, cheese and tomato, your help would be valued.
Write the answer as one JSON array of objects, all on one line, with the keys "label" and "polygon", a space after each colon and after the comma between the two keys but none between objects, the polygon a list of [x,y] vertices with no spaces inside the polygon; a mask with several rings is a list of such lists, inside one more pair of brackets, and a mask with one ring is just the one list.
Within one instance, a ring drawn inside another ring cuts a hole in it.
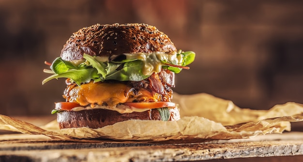
[{"label": "whole tall burger with sesame bun, lettuce, cheese and tomato", "polygon": [[79,29],[60,57],[45,64],[43,80],[66,78],[64,102],[55,103],[60,129],[102,128],[131,120],[178,120],[171,102],[175,74],[195,59],[146,24],[96,24]]}]

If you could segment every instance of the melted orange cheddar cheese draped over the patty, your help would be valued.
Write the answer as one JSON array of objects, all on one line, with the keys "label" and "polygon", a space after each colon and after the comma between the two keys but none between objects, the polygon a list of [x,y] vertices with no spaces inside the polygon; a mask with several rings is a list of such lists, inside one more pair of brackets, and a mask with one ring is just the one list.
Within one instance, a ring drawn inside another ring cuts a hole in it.
[{"label": "melted orange cheddar cheese draped over the patty", "polygon": [[91,104],[106,105],[116,107],[119,103],[157,102],[158,95],[153,95],[150,91],[140,88],[136,93],[134,89],[122,83],[87,83],[73,88],[70,93],[69,102],[77,102],[80,105]]}]

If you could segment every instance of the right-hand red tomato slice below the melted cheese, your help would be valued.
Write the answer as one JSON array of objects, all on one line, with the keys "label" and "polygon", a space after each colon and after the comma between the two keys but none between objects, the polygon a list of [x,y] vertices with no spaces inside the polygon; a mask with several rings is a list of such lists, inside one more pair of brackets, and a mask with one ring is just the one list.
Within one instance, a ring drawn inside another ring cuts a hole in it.
[{"label": "right-hand red tomato slice below the melted cheese", "polygon": [[136,108],[162,108],[162,107],[176,107],[176,103],[171,102],[153,102],[153,103],[123,103],[127,106],[132,106]]}]

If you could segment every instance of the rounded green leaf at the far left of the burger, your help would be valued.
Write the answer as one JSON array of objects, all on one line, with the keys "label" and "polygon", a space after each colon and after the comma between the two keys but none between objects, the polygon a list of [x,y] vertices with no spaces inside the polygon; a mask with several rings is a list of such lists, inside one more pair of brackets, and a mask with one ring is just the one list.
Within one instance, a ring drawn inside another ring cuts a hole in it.
[{"label": "rounded green leaf at the far left of the burger", "polygon": [[50,69],[55,74],[60,74],[68,71],[69,69],[77,69],[77,67],[69,61],[65,61],[61,58],[56,58],[50,66]]}]

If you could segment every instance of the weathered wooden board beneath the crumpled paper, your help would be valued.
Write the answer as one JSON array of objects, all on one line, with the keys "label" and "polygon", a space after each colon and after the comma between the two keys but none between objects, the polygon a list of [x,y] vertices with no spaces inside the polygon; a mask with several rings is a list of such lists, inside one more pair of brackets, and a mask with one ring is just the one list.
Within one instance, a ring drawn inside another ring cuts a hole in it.
[{"label": "weathered wooden board beneath the crumpled paper", "polygon": [[[192,144],[131,141],[56,141],[43,135],[0,135],[0,162],[202,161],[303,155],[303,133],[269,134],[252,139]],[[294,156],[302,158],[303,156]],[[289,158],[288,158],[289,162]]]}]

